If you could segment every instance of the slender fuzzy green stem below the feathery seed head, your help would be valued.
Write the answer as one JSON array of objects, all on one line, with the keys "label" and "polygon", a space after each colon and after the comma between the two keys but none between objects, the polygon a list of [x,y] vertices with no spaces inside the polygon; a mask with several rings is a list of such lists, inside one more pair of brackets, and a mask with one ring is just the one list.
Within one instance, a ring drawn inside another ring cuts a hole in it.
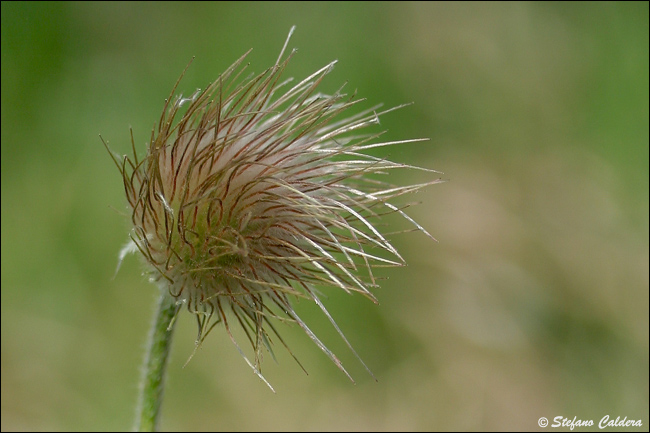
[{"label": "slender fuzzy green stem below the feathery seed head", "polygon": [[142,432],[156,431],[158,426],[165,386],[165,368],[174,333],[174,317],[178,310],[176,301],[167,289],[161,288],[160,292],[158,310],[147,342],[135,420],[135,430]]}]

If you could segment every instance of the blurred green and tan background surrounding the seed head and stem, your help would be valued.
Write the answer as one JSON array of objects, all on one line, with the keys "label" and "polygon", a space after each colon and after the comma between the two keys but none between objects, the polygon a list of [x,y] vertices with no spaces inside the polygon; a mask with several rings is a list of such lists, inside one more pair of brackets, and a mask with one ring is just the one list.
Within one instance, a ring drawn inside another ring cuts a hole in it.
[{"label": "blurred green and tan background surrounding the seed head and stem", "polygon": [[124,154],[132,126],[142,154],[193,56],[185,95],[249,48],[262,72],[294,24],[286,76],[338,59],[323,92],[414,102],[384,137],[431,141],[373,151],[444,172],[396,203],[439,242],[392,237],[408,267],[378,271],[379,305],[323,289],[377,382],[306,301],[356,384],[284,324],[309,375],[276,344],[277,394],[223,327],[183,368],[182,314],[161,428],[647,430],[647,2],[2,2],[2,430],[131,428],[156,288],[137,257],[113,278],[128,218],[98,135]]}]

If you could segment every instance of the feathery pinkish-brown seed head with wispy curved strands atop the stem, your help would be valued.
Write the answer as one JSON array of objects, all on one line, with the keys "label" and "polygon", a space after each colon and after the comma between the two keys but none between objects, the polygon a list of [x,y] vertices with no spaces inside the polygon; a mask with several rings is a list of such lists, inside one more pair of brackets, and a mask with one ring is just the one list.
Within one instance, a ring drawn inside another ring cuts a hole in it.
[{"label": "feathery pinkish-brown seed head with wispy curved strands atop the stem", "polygon": [[417,167],[365,150],[426,139],[364,133],[400,107],[347,114],[361,100],[317,91],[335,62],[297,84],[281,82],[295,52],[283,60],[287,43],[259,75],[241,78],[244,55],[190,98],[173,98],[177,82],[144,158],[135,145],[132,157],[112,154],[132,211],[121,256],[140,251],[153,279],[196,314],[197,346],[221,322],[235,342],[231,326],[239,323],[255,352],[254,362],[244,358],[260,377],[262,349],[276,338],[284,344],[272,319],[297,323],[345,372],[290,300],[315,302],[345,340],[316,287],[376,302],[373,268],[404,260],[374,223],[397,213],[430,236],[389,200],[439,181],[393,186],[371,178]]}]

